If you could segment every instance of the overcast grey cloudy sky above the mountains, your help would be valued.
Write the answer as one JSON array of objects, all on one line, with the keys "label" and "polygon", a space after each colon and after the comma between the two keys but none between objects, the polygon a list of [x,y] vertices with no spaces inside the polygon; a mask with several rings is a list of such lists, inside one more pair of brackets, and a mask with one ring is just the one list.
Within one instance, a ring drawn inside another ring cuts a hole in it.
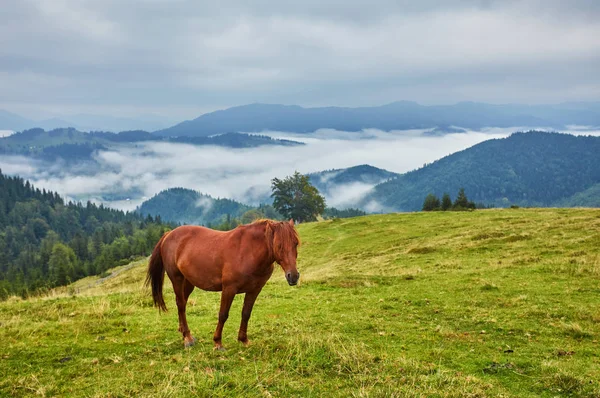
[{"label": "overcast grey cloudy sky above the mountains", "polygon": [[0,109],[600,100],[596,0],[3,0]]}]

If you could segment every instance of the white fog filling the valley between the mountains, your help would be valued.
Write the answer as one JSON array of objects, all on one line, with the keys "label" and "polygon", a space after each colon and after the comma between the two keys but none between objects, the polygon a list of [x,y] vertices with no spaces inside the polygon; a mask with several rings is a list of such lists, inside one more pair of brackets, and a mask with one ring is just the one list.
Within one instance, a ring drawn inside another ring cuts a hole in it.
[{"label": "white fog filling the valley between the mountains", "polygon": [[[173,187],[257,204],[268,197],[271,179],[286,177],[296,170],[311,173],[369,164],[404,173],[518,130],[488,129],[442,137],[423,136],[421,131],[319,130],[308,135],[265,132],[306,145],[231,149],[152,142],[101,151],[95,155],[93,165],[48,165],[24,157],[2,156],[0,168],[69,199],[90,199],[124,210],[133,210],[144,200]],[[600,135],[597,131],[571,132]],[[336,186],[326,199],[332,206],[351,206],[371,188],[362,183]]]}]

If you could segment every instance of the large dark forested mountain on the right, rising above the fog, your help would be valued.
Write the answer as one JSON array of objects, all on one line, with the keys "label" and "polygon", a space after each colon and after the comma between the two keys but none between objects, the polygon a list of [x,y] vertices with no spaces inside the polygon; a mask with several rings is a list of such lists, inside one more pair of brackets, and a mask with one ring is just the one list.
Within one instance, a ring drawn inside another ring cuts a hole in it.
[{"label": "large dark forested mountain on the right, rising above the fog", "polygon": [[373,211],[420,210],[429,193],[465,188],[477,203],[505,207],[598,205],[600,137],[530,131],[484,141],[377,185]]}]

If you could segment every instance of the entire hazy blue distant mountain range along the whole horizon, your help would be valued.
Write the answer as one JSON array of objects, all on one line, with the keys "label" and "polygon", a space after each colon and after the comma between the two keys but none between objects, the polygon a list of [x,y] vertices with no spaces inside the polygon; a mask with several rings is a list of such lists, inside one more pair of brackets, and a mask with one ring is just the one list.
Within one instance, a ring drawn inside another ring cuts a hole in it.
[{"label": "entire hazy blue distant mountain range along the whole horizon", "polygon": [[[0,130],[46,130],[73,127],[81,131],[153,131],[160,136],[207,137],[224,133],[286,131],[309,133],[330,128],[341,131],[435,129],[436,134],[456,127],[523,127],[565,129],[568,125],[600,126],[600,102],[568,102],[554,105],[486,104],[459,102],[454,105],[420,105],[397,101],[371,107],[315,107],[248,104],[218,110],[172,125],[173,120],[156,115],[125,118],[77,114],[31,120],[0,110]],[[170,126],[171,127],[168,127]]]}]

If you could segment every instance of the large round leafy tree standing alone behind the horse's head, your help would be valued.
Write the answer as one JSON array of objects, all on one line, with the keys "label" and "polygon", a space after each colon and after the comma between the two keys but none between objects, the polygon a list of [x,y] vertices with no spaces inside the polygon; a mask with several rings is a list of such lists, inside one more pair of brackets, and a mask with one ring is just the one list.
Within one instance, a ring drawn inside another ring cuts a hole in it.
[{"label": "large round leafy tree standing alone behind the horse's head", "polygon": [[280,180],[271,180],[273,207],[286,218],[298,222],[315,221],[325,210],[325,198],[310,182],[309,177],[295,172]]}]

